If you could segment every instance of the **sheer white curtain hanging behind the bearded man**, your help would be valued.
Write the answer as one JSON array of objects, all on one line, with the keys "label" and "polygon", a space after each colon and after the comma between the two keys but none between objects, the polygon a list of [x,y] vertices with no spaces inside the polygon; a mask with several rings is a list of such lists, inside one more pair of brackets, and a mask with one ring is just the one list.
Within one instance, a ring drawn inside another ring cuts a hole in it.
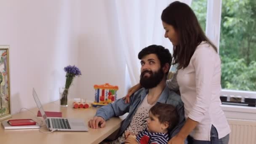
[{"label": "sheer white curtain hanging behind the bearded man", "polygon": [[[115,0],[115,32],[123,50],[131,85],[139,83],[140,62],[138,53],[148,45],[163,45],[172,52],[172,44],[164,38],[161,13],[175,0]],[[191,4],[192,0],[181,0]],[[113,6],[113,5],[112,5]]]}]

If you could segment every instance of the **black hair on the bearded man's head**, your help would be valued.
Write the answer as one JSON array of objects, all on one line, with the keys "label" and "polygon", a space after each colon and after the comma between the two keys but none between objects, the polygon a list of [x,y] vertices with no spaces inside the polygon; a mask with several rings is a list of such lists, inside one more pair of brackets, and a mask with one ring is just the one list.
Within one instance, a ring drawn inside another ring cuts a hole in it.
[{"label": "black hair on the bearded man's head", "polygon": [[[163,68],[163,66],[168,63],[169,66],[171,67],[171,61],[172,61],[172,57],[171,57],[171,53],[167,48],[164,48],[161,45],[149,45],[146,48],[143,48],[139,54],[138,54],[138,58],[141,60],[144,56],[149,55],[149,54],[156,54],[157,58],[160,61],[161,64],[161,68]],[[170,70],[170,67],[168,69],[168,72],[165,73],[165,75],[167,76]]]}]

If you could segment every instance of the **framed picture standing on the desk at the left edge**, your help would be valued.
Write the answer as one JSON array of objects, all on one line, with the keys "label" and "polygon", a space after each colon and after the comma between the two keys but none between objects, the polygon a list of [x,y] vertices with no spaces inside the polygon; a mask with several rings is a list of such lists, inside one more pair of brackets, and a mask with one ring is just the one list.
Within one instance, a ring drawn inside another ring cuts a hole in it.
[{"label": "framed picture standing on the desk at the left edge", "polygon": [[11,117],[9,45],[0,45],[0,121]]}]

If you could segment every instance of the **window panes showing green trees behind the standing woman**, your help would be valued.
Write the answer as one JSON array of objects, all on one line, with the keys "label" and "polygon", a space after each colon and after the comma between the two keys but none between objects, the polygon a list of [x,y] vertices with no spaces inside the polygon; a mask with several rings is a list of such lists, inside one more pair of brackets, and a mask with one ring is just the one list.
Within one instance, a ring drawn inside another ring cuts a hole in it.
[{"label": "window panes showing green trees behind the standing woman", "polygon": [[[221,0],[217,1],[220,5]],[[203,30],[205,30],[207,13],[218,16],[214,8],[207,12],[207,0],[193,0],[191,8]],[[209,24],[212,22],[214,21]],[[222,92],[229,95],[256,97],[255,0],[222,0],[219,39]]]}]

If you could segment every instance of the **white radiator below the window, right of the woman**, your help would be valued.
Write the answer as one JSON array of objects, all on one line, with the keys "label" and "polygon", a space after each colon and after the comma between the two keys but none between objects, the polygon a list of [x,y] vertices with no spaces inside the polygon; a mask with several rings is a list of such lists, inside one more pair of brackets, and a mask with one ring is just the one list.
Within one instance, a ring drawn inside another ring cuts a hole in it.
[{"label": "white radiator below the window, right of the woman", "polygon": [[229,144],[256,144],[256,120],[229,119]]}]

